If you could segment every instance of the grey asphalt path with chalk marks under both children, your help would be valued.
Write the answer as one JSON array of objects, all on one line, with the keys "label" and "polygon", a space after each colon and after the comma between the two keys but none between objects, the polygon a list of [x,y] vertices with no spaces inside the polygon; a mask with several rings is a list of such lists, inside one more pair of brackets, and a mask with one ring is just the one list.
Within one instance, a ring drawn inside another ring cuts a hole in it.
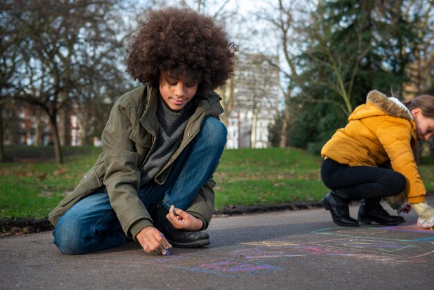
[{"label": "grey asphalt path with chalk marks under both children", "polygon": [[433,289],[434,230],[417,228],[413,211],[404,217],[345,228],[323,209],[223,216],[209,246],[168,256],[134,242],[68,256],[51,232],[4,237],[0,289]]}]

